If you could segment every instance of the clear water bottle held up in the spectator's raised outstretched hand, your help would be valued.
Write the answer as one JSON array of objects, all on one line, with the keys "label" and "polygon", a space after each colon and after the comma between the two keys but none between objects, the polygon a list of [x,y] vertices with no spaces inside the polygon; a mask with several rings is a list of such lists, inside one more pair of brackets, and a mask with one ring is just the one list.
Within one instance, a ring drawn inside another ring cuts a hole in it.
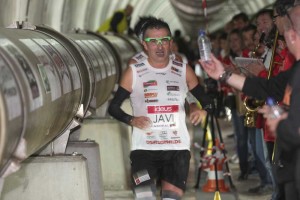
[{"label": "clear water bottle held up in the spectator's raised outstretched hand", "polygon": [[204,30],[199,31],[198,36],[198,47],[201,60],[208,61],[210,60],[211,53],[211,43],[209,38],[206,36]]}]

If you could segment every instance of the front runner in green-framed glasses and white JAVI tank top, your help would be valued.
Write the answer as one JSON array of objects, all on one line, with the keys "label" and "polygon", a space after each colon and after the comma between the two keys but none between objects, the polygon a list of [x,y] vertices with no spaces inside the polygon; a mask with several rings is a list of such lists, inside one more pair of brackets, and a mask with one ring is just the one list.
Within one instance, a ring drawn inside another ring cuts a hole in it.
[{"label": "front runner in green-framed glasses and white JAVI tank top", "polygon": [[[172,36],[166,22],[147,23],[142,44],[148,58],[128,66],[108,112],[133,127],[130,159],[135,199],[156,199],[157,180],[162,199],[181,199],[191,157],[186,94],[190,91],[204,107],[210,107],[211,100],[192,68],[170,59]],[[133,115],[121,109],[127,97]],[[192,123],[204,116],[198,115]]]}]

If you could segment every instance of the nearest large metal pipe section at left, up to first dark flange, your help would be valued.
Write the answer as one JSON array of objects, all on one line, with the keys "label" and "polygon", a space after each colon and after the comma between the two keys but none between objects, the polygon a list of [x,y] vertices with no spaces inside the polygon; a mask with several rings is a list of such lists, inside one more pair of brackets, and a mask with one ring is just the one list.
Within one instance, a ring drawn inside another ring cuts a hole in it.
[{"label": "nearest large metal pipe section at left, up to first dark flange", "polygon": [[[25,157],[62,133],[81,104],[88,106],[88,74],[79,51],[49,28],[1,29],[1,169],[22,138]],[[63,111],[63,112],[62,112]],[[19,157],[19,155],[14,155]]]}]

